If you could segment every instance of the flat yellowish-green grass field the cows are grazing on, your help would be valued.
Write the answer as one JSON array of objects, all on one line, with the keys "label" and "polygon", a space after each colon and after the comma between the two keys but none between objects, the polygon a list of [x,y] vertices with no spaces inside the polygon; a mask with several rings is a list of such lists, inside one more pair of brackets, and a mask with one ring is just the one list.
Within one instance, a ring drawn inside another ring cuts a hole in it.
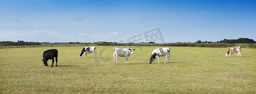
[{"label": "flat yellowish-green grass field the cows are grazing on", "polygon": [[[95,46],[96,58],[79,58],[84,46],[0,49],[0,93],[255,93],[256,50],[225,57],[227,48],[169,47],[149,64],[161,47],[134,48],[124,64],[114,65],[113,48]],[[43,66],[43,51],[57,49],[58,67]]]}]

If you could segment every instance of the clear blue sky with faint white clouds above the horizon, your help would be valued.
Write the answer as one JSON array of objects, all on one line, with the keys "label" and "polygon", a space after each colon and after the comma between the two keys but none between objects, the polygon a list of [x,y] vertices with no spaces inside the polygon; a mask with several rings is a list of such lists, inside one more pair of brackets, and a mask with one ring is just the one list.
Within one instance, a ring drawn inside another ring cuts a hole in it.
[{"label": "clear blue sky with faint white clouds above the horizon", "polygon": [[256,40],[254,0],[0,0],[0,13],[0,41],[146,42],[156,28],[164,43]]}]

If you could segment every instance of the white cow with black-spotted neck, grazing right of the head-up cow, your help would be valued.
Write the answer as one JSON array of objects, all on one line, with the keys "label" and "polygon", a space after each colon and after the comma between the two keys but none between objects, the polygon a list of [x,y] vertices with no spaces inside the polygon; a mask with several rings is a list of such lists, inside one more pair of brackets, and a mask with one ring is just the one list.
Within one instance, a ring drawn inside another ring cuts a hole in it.
[{"label": "white cow with black-spotted neck, grazing right of the head-up cow", "polygon": [[151,58],[149,59],[149,63],[154,63],[156,57],[157,57],[158,63],[159,63],[159,56],[165,56],[165,55],[166,55],[165,62],[168,59],[168,63],[169,63],[170,48],[157,48],[157,49],[153,50]]}]

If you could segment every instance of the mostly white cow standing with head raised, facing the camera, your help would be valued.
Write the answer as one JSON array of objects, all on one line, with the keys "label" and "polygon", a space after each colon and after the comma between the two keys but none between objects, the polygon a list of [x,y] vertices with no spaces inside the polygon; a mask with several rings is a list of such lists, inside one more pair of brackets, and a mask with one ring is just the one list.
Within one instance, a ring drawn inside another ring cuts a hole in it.
[{"label": "mostly white cow standing with head raised, facing the camera", "polygon": [[122,48],[114,48],[113,49],[113,56],[114,56],[114,64],[116,64],[116,58],[117,58],[117,64],[118,64],[118,57],[121,56],[121,57],[125,57],[125,60],[124,60],[124,64],[125,64],[125,61],[127,61],[127,64],[128,64],[128,57],[132,54],[133,55],[133,51],[135,49],[131,48],[131,49],[122,49]]}]

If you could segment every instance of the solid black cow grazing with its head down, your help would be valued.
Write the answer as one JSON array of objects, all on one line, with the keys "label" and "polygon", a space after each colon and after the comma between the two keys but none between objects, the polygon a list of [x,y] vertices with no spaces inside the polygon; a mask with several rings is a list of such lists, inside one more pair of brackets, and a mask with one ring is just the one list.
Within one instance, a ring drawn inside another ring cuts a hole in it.
[{"label": "solid black cow grazing with its head down", "polygon": [[[48,63],[47,61],[49,59],[51,59],[54,63],[54,57],[55,57],[55,60],[56,60],[56,66],[57,66],[57,62],[58,62],[58,50],[56,49],[51,49],[51,50],[46,50],[43,52],[43,64],[44,66],[48,66]],[[52,64],[52,67],[53,67],[53,64]]]}]

